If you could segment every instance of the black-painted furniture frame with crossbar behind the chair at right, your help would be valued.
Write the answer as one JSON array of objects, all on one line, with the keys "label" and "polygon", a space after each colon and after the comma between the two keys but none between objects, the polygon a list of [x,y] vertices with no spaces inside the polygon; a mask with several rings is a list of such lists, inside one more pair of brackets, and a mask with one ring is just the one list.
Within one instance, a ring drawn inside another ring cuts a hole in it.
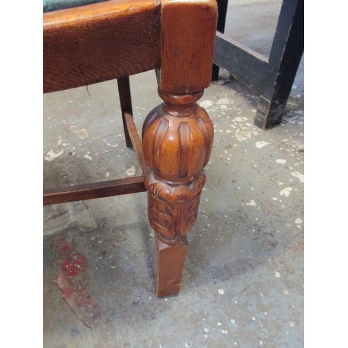
[{"label": "black-painted furniture frame with crossbar behind the chair at right", "polygon": [[304,0],[283,0],[269,58],[223,35],[228,0],[218,0],[212,80],[219,67],[260,95],[255,125],[280,124],[304,49]]}]

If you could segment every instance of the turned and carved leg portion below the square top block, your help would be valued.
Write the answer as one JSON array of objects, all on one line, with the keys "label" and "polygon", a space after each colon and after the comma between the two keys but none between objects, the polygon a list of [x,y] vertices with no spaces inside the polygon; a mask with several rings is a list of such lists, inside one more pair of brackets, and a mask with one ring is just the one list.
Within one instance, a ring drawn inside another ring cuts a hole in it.
[{"label": "turned and carved leg portion below the square top block", "polygon": [[143,152],[148,164],[148,217],[156,232],[157,296],[180,291],[186,234],[198,215],[214,129],[197,100],[203,91],[171,95],[159,90],[164,103],[153,109],[143,125]]}]

